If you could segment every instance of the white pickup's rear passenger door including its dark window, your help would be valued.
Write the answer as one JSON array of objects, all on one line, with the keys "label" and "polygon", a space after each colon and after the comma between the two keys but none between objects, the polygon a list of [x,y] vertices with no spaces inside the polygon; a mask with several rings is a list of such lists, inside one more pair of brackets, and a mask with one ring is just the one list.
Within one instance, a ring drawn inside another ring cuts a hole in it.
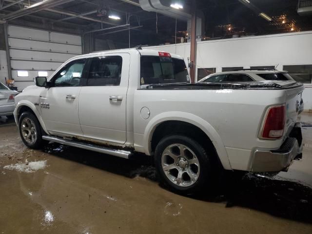
[{"label": "white pickup's rear passenger door including its dark window", "polygon": [[106,54],[101,59],[104,60],[92,59],[87,86],[81,88],[80,126],[84,137],[123,144],[130,55]]}]

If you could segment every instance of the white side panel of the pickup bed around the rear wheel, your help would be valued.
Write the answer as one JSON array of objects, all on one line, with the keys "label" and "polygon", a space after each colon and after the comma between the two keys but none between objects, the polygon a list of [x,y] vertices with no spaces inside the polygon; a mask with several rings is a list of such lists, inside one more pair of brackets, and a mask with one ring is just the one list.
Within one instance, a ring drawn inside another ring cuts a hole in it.
[{"label": "white side panel of the pickup bed around the rear wheel", "polygon": [[[225,169],[249,170],[254,148],[277,149],[283,139],[261,140],[266,108],[286,102],[283,90],[137,90],[134,104],[135,148],[150,155],[156,126],[180,120],[200,127],[212,140]],[[140,116],[148,107],[150,117]]]}]

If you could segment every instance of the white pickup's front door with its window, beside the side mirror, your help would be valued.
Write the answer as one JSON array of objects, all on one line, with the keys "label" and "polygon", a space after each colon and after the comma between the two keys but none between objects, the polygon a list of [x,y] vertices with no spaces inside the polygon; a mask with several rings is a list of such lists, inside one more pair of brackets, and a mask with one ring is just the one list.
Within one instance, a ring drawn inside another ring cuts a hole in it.
[{"label": "white pickup's front door with its window, beside the side mirror", "polygon": [[65,64],[49,80],[51,88],[40,95],[40,109],[49,132],[59,136],[82,136],[78,117],[81,86],[85,83],[87,59],[77,59]]}]

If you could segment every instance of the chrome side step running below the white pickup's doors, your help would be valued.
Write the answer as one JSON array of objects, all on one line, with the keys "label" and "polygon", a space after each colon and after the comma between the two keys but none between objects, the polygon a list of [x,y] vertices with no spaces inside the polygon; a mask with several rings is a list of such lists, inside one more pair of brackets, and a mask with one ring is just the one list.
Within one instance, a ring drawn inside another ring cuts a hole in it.
[{"label": "chrome side step running below the white pickup's doors", "polygon": [[117,149],[108,148],[104,146],[80,142],[77,140],[68,140],[62,137],[42,136],[42,139],[57,142],[63,145],[69,145],[69,146],[78,147],[78,148],[85,149],[85,150],[91,150],[91,151],[113,155],[117,157],[122,157],[122,158],[127,158],[127,159],[129,159],[129,156],[132,154],[130,151],[117,150]]}]

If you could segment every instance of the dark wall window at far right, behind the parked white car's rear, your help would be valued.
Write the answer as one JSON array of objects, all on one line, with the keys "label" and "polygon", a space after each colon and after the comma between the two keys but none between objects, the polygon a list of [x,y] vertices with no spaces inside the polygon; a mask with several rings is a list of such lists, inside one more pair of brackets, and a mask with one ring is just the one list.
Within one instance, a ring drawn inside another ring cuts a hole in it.
[{"label": "dark wall window at far right, behind the parked white car's rear", "polygon": [[312,64],[310,65],[287,65],[283,66],[291,77],[301,83],[312,83]]}]

